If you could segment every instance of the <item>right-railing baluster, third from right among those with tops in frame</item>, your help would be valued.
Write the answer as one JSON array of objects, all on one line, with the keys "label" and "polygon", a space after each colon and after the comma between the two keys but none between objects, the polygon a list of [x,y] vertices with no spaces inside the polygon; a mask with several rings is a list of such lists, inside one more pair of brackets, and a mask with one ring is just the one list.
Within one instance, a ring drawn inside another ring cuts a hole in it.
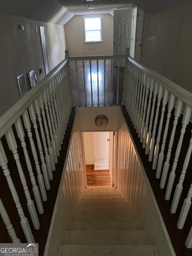
[{"label": "right-railing baluster, third from right among those with tops in frame", "polygon": [[159,154],[158,163],[157,163],[157,170],[156,170],[156,178],[157,179],[159,179],[160,175],[161,175],[163,159],[164,159],[165,143],[166,143],[166,138],[167,138],[167,134],[168,134],[168,128],[169,128],[169,122],[170,122],[170,117],[171,117],[171,111],[173,109],[174,102],[175,102],[175,96],[173,94],[171,94],[170,98],[169,98],[167,120],[166,120],[166,125],[165,125],[165,129],[164,129],[164,134],[163,134],[163,140],[162,140],[162,145],[161,145],[161,152]]}]

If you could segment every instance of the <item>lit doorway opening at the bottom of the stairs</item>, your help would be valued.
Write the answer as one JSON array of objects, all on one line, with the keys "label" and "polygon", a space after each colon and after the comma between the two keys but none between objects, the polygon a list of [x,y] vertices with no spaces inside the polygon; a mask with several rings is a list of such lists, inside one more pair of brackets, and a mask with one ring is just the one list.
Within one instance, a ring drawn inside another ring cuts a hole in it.
[{"label": "lit doorway opening at the bottom of the stairs", "polygon": [[114,132],[83,132],[87,186],[114,183]]}]

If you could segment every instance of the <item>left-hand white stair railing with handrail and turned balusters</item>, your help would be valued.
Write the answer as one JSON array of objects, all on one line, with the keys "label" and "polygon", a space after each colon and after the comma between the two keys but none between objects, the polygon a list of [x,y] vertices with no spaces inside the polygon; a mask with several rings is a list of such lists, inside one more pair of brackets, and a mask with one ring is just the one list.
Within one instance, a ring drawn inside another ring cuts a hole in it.
[{"label": "left-hand white stair railing with handrail and turned balusters", "polygon": [[11,224],[12,201],[11,211],[18,214],[27,242],[35,242],[32,230],[40,228],[38,214],[44,213],[42,202],[47,200],[73,105],[65,59],[0,117],[0,177],[7,182],[0,195],[0,214],[12,242],[20,242],[16,236],[20,228]]}]

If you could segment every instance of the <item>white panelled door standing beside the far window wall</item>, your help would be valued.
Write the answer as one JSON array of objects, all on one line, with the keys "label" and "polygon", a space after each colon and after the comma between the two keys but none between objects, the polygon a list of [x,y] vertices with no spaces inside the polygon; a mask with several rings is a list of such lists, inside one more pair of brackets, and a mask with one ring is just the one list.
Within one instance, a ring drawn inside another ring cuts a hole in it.
[{"label": "white panelled door standing beside the far window wall", "polygon": [[[131,24],[132,9],[114,10],[114,55],[124,55],[126,48],[130,48]],[[125,62],[121,61],[120,66],[125,66]]]}]

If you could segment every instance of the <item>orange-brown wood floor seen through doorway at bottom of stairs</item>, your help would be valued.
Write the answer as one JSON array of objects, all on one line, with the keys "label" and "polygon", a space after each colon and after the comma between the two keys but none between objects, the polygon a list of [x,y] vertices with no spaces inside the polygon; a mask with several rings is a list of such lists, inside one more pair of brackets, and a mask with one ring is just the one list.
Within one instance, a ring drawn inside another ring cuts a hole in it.
[{"label": "orange-brown wood floor seen through doorway at bottom of stairs", "polygon": [[94,165],[86,165],[87,186],[112,186],[109,170],[94,170]]}]

